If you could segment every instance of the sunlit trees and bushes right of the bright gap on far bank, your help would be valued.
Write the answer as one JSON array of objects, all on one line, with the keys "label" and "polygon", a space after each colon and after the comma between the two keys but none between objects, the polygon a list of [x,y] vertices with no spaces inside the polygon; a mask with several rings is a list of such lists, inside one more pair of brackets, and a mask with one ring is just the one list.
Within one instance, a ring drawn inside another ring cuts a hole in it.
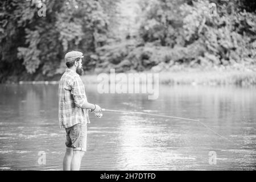
[{"label": "sunlit trees and bushes right of the bright gap on far bank", "polygon": [[136,44],[99,48],[102,67],[97,72],[112,67],[159,72],[184,66],[256,71],[255,1],[158,0],[141,7]]}]

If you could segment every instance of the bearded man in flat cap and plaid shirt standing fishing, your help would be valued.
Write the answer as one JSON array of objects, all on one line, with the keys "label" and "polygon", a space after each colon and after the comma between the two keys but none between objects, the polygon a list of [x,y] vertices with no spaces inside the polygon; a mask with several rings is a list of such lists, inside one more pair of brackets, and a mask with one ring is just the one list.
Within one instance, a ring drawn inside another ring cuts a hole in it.
[{"label": "bearded man in flat cap and plaid shirt standing fishing", "polygon": [[63,170],[79,170],[86,151],[88,110],[97,112],[101,107],[87,101],[83,75],[82,52],[71,51],[65,55],[67,69],[59,82],[59,122],[66,131],[66,152]]}]

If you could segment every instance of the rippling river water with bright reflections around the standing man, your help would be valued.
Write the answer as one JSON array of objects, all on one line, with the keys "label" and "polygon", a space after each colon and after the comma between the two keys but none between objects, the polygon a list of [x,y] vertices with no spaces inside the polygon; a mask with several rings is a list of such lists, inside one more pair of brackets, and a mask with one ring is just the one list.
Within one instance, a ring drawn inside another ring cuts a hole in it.
[{"label": "rippling river water with bright reflections around the standing man", "polygon": [[[58,123],[57,85],[1,85],[0,170],[59,170],[65,131]],[[256,169],[256,88],[160,86],[158,100],[146,94],[97,94],[90,102],[106,109],[144,111],[198,122],[105,112],[90,115],[83,170]],[[250,147],[250,148],[246,148]],[[39,151],[46,164],[38,163]],[[209,164],[209,152],[217,154]]]}]

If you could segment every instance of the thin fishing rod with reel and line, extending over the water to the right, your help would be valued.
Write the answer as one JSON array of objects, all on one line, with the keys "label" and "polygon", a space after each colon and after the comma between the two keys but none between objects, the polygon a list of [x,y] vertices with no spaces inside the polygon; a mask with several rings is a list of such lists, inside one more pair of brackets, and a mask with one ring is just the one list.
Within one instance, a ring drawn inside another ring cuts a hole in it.
[{"label": "thin fishing rod with reel and line, extending over the water to the right", "polygon": [[[101,109],[101,111],[111,111],[111,112],[117,112],[117,113],[129,113],[129,114],[141,114],[141,115],[153,115],[153,116],[156,116],[156,117],[166,117],[166,118],[183,119],[183,120],[187,120],[187,121],[196,121],[196,122],[200,123],[201,125],[203,125],[205,128],[207,128],[208,130],[212,131],[212,133],[218,135],[219,137],[221,137],[225,140],[228,140],[229,142],[231,142],[233,144],[236,144],[237,146],[250,148],[250,149],[254,150],[254,148],[243,146],[239,143],[233,142],[232,140],[222,136],[221,134],[218,134],[216,131],[212,130],[210,127],[208,127],[207,125],[205,125],[204,123],[200,122],[197,119],[181,118],[181,117],[174,117],[174,116],[170,116],[170,115],[151,114],[151,113],[143,113],[143,112],[135,112],[135,111],[113,110],[113,109]],[[96,117],[98,117],[98,118],[101,118],[102,115],[103,115],[101,112],[99,112],[99,113],[96,113],[94,111],[92,111],[92,112],[95,113]]]}]

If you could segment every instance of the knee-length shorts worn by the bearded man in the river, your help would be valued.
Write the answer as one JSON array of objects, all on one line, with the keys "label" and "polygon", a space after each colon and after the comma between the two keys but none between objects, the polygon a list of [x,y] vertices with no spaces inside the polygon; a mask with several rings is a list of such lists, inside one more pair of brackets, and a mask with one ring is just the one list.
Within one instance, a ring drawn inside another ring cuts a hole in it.
[{"label": "knee-length shorts worn by the bearded man in the river", "polygon": [[66,130],[66,146],[73,150],[86,151],[87,125],[78,123]]}]

